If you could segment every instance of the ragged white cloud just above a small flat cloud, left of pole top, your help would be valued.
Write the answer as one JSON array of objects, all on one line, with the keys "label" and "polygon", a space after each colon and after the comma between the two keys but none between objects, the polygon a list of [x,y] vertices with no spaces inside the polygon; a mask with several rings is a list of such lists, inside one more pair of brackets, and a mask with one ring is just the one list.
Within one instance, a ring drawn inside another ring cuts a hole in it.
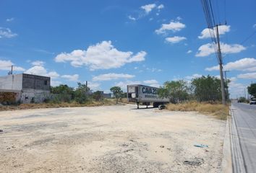
[{"label": "ragged white cloud just above a small flat cloud, left of pole top", "polygon": [[162,24],[161,28],[158,30],[155,30],[155,32],[160,35],[160,34],[166,34],[168,30],[171,30],[173,32],[180,31],[182,30],[186,25],[179,21],[171,21],[168,24]]}]

